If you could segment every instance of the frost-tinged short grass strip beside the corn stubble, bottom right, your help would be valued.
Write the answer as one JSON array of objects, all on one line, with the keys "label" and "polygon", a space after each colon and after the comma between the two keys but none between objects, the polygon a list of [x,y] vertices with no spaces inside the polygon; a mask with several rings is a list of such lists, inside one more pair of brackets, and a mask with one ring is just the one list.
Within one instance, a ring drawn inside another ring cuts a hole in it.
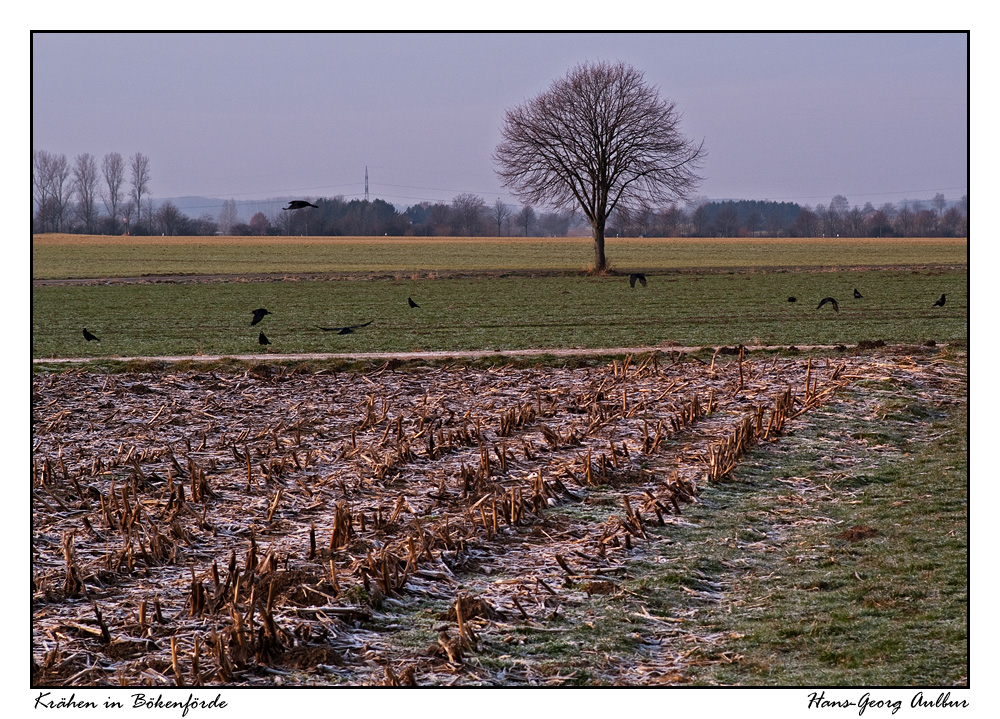
[{"label": "frost-tinged short grass strip beside the corn stubble, bottom right", "polygon": [[[637,583],[651,611],[686,603],[722,638],[690,680],[967,685],[967,411],[962,396],[871,383],[706,492],[697,526],[664,545],[671,574],[653,565]],[[721,590],[692,604],[671,577]]]}]

